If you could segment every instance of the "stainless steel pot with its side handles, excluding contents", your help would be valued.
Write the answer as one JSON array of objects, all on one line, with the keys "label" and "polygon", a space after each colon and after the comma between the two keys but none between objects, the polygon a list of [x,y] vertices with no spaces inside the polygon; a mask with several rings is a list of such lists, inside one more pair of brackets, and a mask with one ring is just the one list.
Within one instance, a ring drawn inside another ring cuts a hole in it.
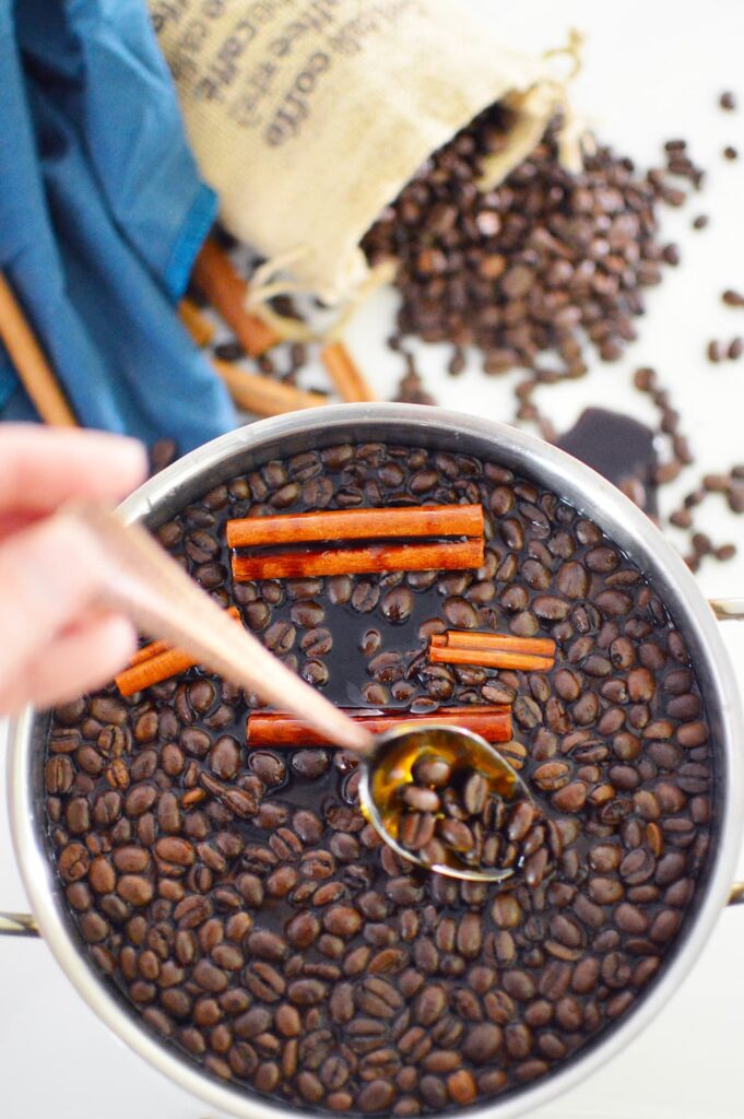
[{"label": "stainless steel pot with its side handles, excluding contents", "polygon": [[[651,521],[594,471],[531,435],[502,424],[440,408],[401,404],[342,404],[293,413],[230,432],[175,463],[122,506],[131,520],[152,528],[206,490],[274,458],[346,441],[390,441],[478,455],[501,462],[554,489],[594,519],[652,580],[685,633],[705,696],[716,745],[715,857],[695,912],[674,952],[631,1013],[565,1069],[518,1096],[470,1111],[508,1119],[539,1107],[583,1080],[623,1049],[678,989],[729,897],[744,820],[741,746],[744,741],[736,680],[716,618],[691,574]],[[719,615],[731,611],[722,604]],[[276,1119],[275,1107],[222,1084],[153,1037],[93,971],[66,915],[44,840],[43,756],[49,716],[26,711],[13,724],[10,756],[10,824],[21,875],[38,930],[81,995],[136,1053],[210,1106],[246,1119]],[[741,888],[734,900],[742,896]],[[34,931],[32,918],[6,921],[9,931]]]}]

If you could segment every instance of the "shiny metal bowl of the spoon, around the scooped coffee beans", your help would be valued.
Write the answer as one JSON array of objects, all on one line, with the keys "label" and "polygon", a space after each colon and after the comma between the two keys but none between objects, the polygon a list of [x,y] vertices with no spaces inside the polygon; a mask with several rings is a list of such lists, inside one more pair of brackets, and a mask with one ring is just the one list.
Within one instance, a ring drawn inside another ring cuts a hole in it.
[{"label": "shiny metal bowl of the spoon, around the scooped coffee beans", "polygon": [[531,802],[514,767],[479,734],[444,723],[421,726],[404,718],[377,736],[371,751],[362,756],[359,800],[365,819],[398,857],[426,871],[467,882],[503,882],[511,877],[517,867],[471,866],[450,848],[444,861],[428,863],[401,843],[401,791],[413,781],[416,762],[433,758],[444,759],[455,772],[467,768],[481,773],[489,782],[489,791],[506,802]]}]

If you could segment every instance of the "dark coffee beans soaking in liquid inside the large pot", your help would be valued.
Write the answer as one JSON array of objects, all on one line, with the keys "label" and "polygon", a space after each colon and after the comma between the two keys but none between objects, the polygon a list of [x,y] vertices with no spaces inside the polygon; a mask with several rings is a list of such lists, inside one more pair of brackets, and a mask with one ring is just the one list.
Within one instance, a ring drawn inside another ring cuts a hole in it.
[{"label": "dark coffee beans soaking in liquid inside the large pot", "polygon": [[[478,571],[232,583],[228,518],[453,501],[483,505]],[[254,698],[199,669],[82,696],[51,716],[49,855],[138,1021],[284,1108],[415,1116],[539,1081],[623,1019],[705,882],[716,802],[695,665],[622,551],[498,463],[384,443],[266,462],[157,535],[338,704],[510,704],[499,749],[547,852],[503,885],[414,866],[365,821],[354,758],[248,750]],[[555,668],[430,665],[452,627],[549,636]]]}]

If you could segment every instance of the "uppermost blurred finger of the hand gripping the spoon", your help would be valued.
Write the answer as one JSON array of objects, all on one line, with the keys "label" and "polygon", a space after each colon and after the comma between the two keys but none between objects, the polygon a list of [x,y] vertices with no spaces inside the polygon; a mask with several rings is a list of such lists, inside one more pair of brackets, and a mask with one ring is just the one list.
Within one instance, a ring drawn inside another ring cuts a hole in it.
[{"label": "uppermost blurred finger of the hand gripping the spoon", "polygon": [[145,473],[144,446],[124,435],[0,425],[0,511],[43,514],[70,497],[121,498]]}]

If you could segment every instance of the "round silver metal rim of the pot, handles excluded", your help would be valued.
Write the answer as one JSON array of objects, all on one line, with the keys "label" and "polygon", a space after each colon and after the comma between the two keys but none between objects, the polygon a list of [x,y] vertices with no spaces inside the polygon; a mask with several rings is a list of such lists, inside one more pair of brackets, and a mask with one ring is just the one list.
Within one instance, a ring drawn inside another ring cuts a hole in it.
[{"label": "round silver metal rim of the pot, handles excluded", "polygon": [[[615,1053],[635,1037],[661,1010],[679,988],[685,975],[701,952],[713,927],[725,904],[735,873],[742,827],[744,825],[744,777],[740,743],[744,741],[744,720],[736,678],[728,653],[718,631],[713,612],[681,557],[675,552],[659,529],[614,486],[595,471],[573,459],[564,451],[545,443],[535,435],[507,424],[482,420],[465,413],[426,405],[397,403],[337,404],[307,412],[289,413],[257,421],[191,451],[182,459],[147,481],[120,507],[128,520],[147,517],[161,502],[178,495],[181,487],[217,468],[242,450],[261,451],[267,443],[281,443],[293,435],[322,432],[322,443],[336,431],[343,431],[339,439],[357,438],[354,427],[378,427],[380,441],[396,441],[396,429],[414,425],[426,430],[444,442],[458,443],[474,440],[490,444],[495,458],[499,454],[515,460],[518,469],[536,476],[545,485],[566,496],[572,505],[609,528],[618,540],[625,536],[648,561],[657,582],[668,583],[675,599],[675,614],[682,621],[682,629],[694,634],[697,667],[712,669],[712,685],[716,689],[719,730],[717,744],[721,756],[716,759],[719,772],[719,821],[715,835],[716,852],[707,869],[704,896],[695,912],[687,914],[679,944],[665,962],[650,991],[642,994],[630,1016],[611,1027],[606,1037],[578,1052],[565,1068],[548,1074],[533,1087],[525,1087],[498,1097],[487,1103],[467,1109],[473,1119],[514,1119],[531,1111],[577,1085],[605,1064]],[[411,439],[411,433],[399,436]],[[435,443],[435,438],[432,440]],[[415,439],[414,439],[415,445]],[[467,446],[462,453],[473,452]],[[294,452],[292,452],[294,453]],[[559,485],[563,483],[563,485]],[[667,600],[665,600],[667,601]],[[270,1100],[248,1096],[239,1089],[220,1083],[201,1072],[190,1059],[180,1055],[167,1042],[150,1034],[129,1008],[111,993],[104,979],[95,974],[77,947],[74,933],[67,927],[57,905],[57,891],[51,864],[46,857],[40,834],[35,828],[36,811],[34,788],[29,779],[35,712],[26,708],[10,728],[9,815],[13,846],[21,878],[41,934],[78,993],[106,1025],[151,1065],[168,1075],[211,1107],[245,1117],[245,1119],[277,1119],[286,1115],[285,1107]],[[317,1115],[309,1109],[292,1108],[296,1115]],[[464,1112],[463,1112],[464,1113]]]}]

